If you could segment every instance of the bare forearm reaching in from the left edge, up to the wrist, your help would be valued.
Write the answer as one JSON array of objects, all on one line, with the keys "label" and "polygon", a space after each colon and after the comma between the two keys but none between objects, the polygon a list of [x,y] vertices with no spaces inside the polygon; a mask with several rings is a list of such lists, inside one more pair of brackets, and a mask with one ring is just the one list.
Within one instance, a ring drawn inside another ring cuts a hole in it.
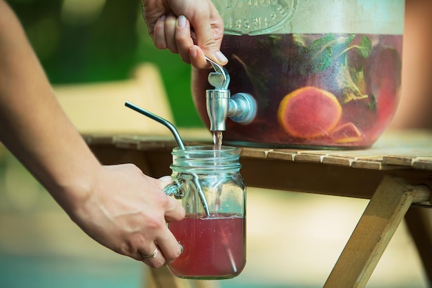
[{"label": "bare forearm reaching in from the left edge, up to the wrist", "polygon": [[100,165],[61,110],[19,21],[3,0],[0,11],[0,141],[66,208],[86,197]]}]

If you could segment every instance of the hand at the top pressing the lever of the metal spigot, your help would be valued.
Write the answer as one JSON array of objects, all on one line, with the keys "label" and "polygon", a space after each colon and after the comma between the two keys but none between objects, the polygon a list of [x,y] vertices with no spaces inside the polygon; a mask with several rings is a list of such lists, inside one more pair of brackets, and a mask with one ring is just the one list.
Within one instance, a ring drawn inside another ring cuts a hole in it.
[{"label": "hand at the top pressing the lever of the metal spigot", "polygon": [[220,65],[224,22],[210,0],[142,0],[148,32],[159,49],[178,53],[195,68],[208,68],[204,55]]}]

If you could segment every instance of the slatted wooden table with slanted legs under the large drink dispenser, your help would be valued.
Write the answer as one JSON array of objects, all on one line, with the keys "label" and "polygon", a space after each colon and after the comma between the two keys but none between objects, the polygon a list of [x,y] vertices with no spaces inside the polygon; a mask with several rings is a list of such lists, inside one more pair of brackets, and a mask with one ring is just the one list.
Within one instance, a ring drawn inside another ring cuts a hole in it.
[{"label": "slatted wooden table with slanted legs under the large drink dispenser", "polygon": [[[84,138],[102,163],[135,163],[155,177],[170,174],[177,146],[170,137]],[[250,187],[371,199],[324,287],[364,287],[403,218],[432,283],[431,210],[422,209],[432,207],[432,132],[386,132],[367,150],[242,147],[240,162]],[[181,287],[166,272],[154,276],[153,287]]]}]

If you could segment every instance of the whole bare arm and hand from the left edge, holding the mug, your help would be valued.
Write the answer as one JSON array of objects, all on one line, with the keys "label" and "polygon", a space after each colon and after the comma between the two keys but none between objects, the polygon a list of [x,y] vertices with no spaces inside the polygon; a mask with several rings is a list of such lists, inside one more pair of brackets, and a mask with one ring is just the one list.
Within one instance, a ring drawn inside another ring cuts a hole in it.
[{"label": "whole bare arm and hand from the left edge, holding the mug", "polygon": [[159,267],[180,249],[166,220],[184,209],[166,182],[135,165],[101,165],[61,110],[23,28],[0,0],[0,141],[50,192],[70,218],[102,245],[144,260],[156,245]]}]

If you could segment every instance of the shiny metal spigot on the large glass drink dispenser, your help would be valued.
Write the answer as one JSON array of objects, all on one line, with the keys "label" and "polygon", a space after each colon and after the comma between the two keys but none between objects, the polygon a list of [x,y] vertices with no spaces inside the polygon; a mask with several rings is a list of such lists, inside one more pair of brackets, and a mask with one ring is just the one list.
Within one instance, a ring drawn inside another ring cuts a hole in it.
[{"label": "shiny metal spigot on the large glass drink dispenser", "polygon": [[206,90],[210,131],[225,131],[227,117],[238,123],[251,123],[257,114],[257,103],[253,96],[247,93],[237,93],[230,96],[228,71],[214,61],[206,59],[215,70],[215,72],[208,74],[208,83],[215,89]]}]

